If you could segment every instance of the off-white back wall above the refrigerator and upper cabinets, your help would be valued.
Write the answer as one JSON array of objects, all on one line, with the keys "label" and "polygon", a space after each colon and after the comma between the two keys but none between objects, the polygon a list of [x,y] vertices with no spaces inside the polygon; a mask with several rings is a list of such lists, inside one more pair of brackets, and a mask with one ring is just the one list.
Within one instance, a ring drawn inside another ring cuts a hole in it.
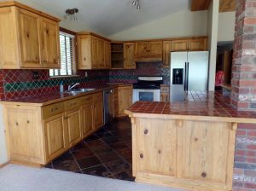
[{"label": "off-white back wall above the refrigerator and upper cabinets", "polygon": [[109,36],[113,40],[177,38],[207,35],[207,11],[185,10]]}]

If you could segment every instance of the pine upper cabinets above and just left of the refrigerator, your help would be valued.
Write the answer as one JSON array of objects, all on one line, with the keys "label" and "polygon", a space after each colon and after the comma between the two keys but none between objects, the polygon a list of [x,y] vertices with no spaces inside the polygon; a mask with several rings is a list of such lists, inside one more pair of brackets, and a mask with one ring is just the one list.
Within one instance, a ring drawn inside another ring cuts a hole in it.
[{"label": "pine upper cabinets above and just left of the refrigerator", "polygon": [[207,37],[166,40],[163,42],[163,67],[170,67],[171,52],[206,50]]}]

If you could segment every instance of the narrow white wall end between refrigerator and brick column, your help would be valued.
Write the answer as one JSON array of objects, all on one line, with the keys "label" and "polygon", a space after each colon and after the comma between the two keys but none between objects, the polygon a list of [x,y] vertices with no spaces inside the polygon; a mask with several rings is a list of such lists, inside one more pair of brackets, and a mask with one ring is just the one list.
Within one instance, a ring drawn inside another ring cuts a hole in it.
[{"label": "narrow white wall end between refrigerator and brick column", "polygon": [[214,90],[215,72],[216,72],[216,56],[218,41],[218,6],[219,0],[212,1],[208,9],[208,49],[209,55],[209,90]]}]

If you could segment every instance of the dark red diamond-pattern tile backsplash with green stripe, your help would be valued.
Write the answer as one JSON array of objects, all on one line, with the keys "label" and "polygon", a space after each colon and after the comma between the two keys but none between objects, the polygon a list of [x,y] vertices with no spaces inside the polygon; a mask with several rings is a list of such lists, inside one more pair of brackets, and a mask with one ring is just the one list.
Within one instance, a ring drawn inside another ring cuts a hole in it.
[{"label": "dark red diamond-pattern tile backsplash with green stripe", "polygon": [[[38,72],[34,79],[32,72]],[[85,72],[88,76],[85,77]],[[11,100],[23,96],[36,96],[58,91],[61,82],[64,88],[71,83],[80,83],[84,88],[95,88],[110,83],[133,84],[137,76],[164,76],[169,84],[170,72],[161,62],[137,63],[136,70],[88,70],[79,71],[78,77],[49,78],[49,70],[0,70],[0,100]]]}]

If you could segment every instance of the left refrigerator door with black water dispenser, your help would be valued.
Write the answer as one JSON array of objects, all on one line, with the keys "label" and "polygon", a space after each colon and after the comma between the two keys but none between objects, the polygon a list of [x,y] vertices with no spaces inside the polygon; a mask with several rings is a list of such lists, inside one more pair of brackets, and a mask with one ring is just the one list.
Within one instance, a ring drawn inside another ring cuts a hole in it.
[{"label": "left refrigerator door with black water dispenser", "polygon": [[187,59],[187,52],[171,53],[170,101],[184,101],[185,99],[184,82]]}]

